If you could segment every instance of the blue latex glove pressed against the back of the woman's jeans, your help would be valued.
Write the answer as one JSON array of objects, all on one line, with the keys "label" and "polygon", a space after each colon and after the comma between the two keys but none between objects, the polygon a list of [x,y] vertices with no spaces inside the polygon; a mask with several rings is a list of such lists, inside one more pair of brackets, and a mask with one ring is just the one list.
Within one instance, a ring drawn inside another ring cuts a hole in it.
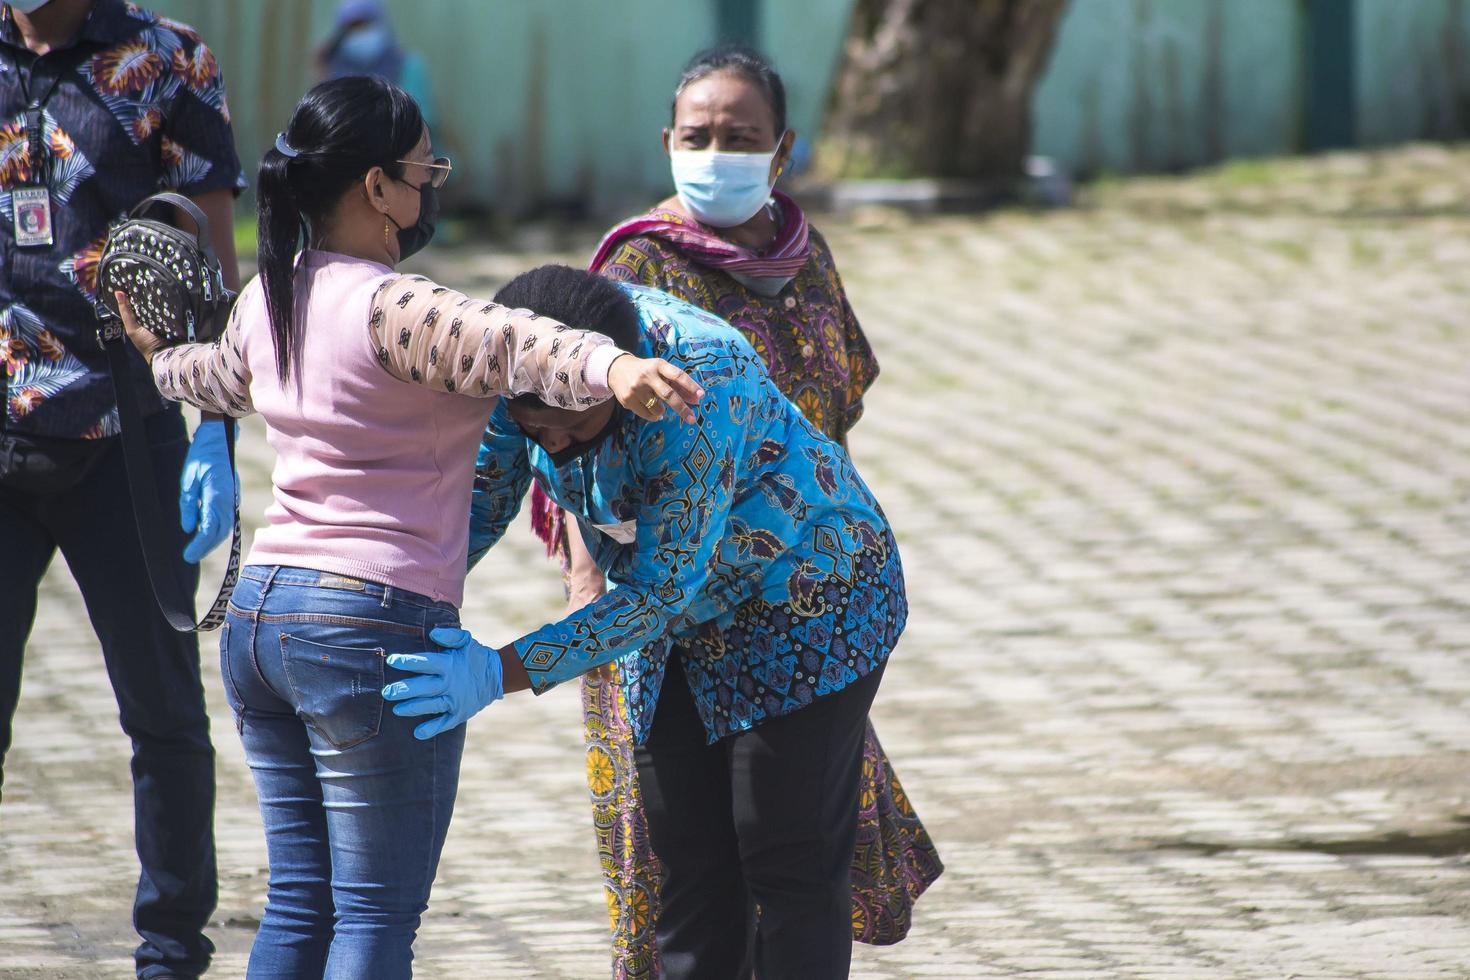
[{"label": "blue latex glove pressed against the back of the woman's jeans", "polygon": [[413,729],[417,739],[432,739],[440,732],[465,724],[479,710],[500,701],[506,693],[500,651],[479,644],[467,630],[440,626],[429,633],[444,652],[391,654],[388,666],[420,677],[394,680],[382,689],[382,696],[397,701],[392,713],[403,717],[434,714]]}]

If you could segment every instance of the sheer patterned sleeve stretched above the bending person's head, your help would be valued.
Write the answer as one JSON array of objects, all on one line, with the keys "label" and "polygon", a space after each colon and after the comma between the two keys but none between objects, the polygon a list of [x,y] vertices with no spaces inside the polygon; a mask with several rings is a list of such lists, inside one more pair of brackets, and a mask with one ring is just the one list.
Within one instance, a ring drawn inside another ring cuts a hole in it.
[{"label": "sheer patterned sleeve stretched above the bending person's head", "polygon": [[610,339],[531,310],[475,300],[423,276],[390,276],[372,298],[378,363],[400,381],[475,398],[535,394],[587,408],[610,397]]}]

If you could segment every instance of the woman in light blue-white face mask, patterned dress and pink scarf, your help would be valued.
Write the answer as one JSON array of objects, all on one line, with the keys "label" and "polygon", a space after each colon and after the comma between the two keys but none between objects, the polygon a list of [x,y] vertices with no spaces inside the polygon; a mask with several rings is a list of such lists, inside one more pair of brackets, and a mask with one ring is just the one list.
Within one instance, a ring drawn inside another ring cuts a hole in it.
[{"label": "woman in light blue-white face mask, patterned dress and pink scarf", "polygon": [[[656,287],[732,323],[803,414],[845,445],[878,363],[826,241],[797,203],[775,190],[794,143],[781,76],[759,54],[736,47],[697,54],[679,79],[663,131],[676,194],[613,228],[591,267]],[[572,608],[595,599],[603,579],[581,536],[566,535],[560,511],[541,494],[532,514],[538,533],[570,569]],[[584,682],[582,698],[588,785],[613,917],[613,976],[682,976],[678,964],[698,958],[685,948],[700,932],[698,915],[681,926],[663,921],[654,942],[664,874],[650,846],[620,683],[616,666],[597,671]],[[913,902],[942,865],[872,726],[860,799],[853,936],[895,943],[908,932]],[[731,929],[739,948],[739,923]],[[669,959],[660,961],[660,954]],[[750,976],[738,955],[726,959],[729,976]]]}]

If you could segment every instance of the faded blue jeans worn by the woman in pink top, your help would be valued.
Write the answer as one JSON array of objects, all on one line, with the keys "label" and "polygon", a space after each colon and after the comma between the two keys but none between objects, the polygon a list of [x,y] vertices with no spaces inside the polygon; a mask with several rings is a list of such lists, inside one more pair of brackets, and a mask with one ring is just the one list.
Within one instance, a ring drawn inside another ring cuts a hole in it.
[{"label": "faded blue jeans worn by the woman in pink top", "polygon": [[270,886],[257,977],[409,977],[448,832],[465,727],[420,742],[382,686],[388,654],[457,626],[447,602],[307,569],[248,566],[220,638],[256,779]]}]

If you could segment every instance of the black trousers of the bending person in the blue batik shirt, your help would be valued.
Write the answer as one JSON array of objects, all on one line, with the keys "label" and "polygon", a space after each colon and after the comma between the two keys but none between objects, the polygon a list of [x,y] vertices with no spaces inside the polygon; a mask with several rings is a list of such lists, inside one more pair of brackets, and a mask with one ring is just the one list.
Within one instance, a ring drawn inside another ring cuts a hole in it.
[{"label": "black trousers of the bending person in the blue batik shirt", "polygon": [[681,660],[669,658],[648,742],[635,752],[664,867],[656,926],[664,976],[847,977],[863,732],[882,669],[707,745]]}]

